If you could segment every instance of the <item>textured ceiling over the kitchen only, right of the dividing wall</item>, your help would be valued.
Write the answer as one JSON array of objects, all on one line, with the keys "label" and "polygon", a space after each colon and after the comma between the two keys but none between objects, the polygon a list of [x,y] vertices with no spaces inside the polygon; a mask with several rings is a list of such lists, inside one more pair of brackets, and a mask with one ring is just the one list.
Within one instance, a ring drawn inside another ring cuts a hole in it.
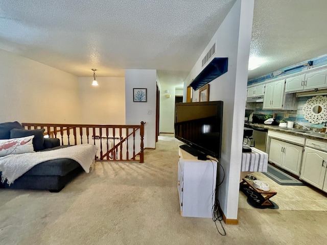
[{"label": "textured ceiling over the kitchen only, right of the dividing wall", "polygon": [[265,60],[248,78],[327,54],[327,1],[255,0],[250,57]]}]

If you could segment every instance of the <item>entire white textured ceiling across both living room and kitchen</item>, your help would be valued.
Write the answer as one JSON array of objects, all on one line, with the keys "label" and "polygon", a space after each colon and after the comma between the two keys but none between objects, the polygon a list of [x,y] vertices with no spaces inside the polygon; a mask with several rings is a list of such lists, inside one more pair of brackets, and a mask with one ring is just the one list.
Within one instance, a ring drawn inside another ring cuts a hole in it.
[{"label": "entire white textured ceiling across both living room and kitchen", "polygon": [[[80,77],[189,73],[236,0],[2,0],[0,48]],[[249,78],[327,54],[325,0],[255,0]]]}]

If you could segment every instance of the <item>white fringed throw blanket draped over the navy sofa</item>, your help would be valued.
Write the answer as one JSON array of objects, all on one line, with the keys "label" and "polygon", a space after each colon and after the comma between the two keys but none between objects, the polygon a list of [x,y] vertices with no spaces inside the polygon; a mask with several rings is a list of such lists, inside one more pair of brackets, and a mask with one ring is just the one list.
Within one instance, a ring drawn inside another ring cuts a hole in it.
[{"label": "white fringed throw blanket draped over the navy sofa", "polygon": [[35,165],[49,160],[69,158],[77,161],[86,173],[95,160],[98,147],[94,144],[79,144],[46,152],[23,153],[0,157],[0,171],[2,182],[7,180],[10,185],[18,177],[24,175]]}]

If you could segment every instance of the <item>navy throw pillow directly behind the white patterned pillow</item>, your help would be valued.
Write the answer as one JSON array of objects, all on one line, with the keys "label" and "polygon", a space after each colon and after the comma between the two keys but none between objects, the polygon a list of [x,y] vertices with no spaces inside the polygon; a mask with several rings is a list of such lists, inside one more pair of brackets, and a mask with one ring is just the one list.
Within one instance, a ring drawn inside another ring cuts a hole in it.
[{"label": "navy throw pillow directly behind the white patterned pillow", "polygon": [[41,151],[44,149],[43,138],[44,129],[12,129],[10,131],[10,138],[20,138],[20,137],[26,137],[34,135],[33,138],[33,146],[34,151]]}]

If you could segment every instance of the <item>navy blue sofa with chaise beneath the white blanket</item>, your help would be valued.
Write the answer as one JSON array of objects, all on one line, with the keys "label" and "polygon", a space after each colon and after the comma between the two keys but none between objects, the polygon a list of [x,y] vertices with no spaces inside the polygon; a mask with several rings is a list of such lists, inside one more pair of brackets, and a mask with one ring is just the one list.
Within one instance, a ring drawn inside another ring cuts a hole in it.
[{"label": "navy blue sofa with chaise beneath the white blanket", "polygon": [[[51,151],[69,145],[60,145],[56,138],[44,138],[44,129],[25,130],[17,121],[0,124],[0,139],[19,138],[34,135],[34,151]],[[1,158],[1,157],[0,157]],[[0,181],[0,188],[38,189],[59,192],[69,181],[83,171],[73,159],[61,158],[37,164],[20,176],[11,185]],[[0,177],[2,172],[0,171]],[[0,178],[1,180],[1,178]]]}]

